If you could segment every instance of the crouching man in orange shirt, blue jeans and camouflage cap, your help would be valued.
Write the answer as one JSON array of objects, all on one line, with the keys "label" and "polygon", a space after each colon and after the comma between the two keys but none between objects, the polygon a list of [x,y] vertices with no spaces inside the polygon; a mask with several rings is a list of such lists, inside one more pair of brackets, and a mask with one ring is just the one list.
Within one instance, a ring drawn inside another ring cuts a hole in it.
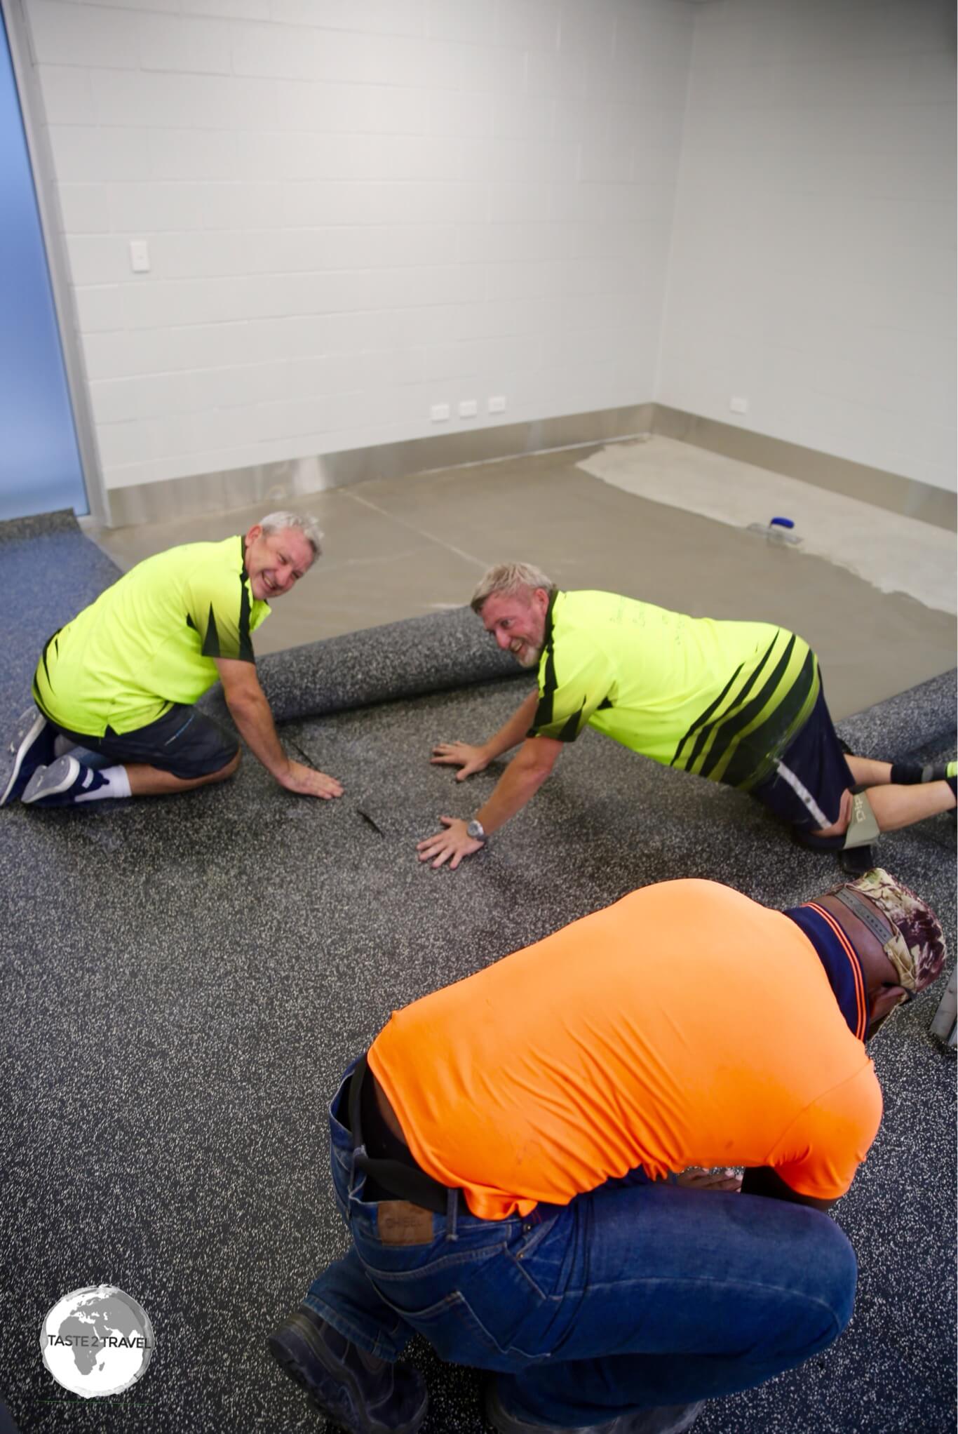
[{"label": "crouching man in orange shirt, blue jeans and camouflage cap", "polygon": [[865,1041],[944,956],[882,870],[786,912],[677,880],[394,1012],[330,1106],[353,1248],[272,1354],[353,1434],[420,1427],[413,1332],[496,1372],[501,1434],[678,1434],[802,1364],[852,1314]]}]

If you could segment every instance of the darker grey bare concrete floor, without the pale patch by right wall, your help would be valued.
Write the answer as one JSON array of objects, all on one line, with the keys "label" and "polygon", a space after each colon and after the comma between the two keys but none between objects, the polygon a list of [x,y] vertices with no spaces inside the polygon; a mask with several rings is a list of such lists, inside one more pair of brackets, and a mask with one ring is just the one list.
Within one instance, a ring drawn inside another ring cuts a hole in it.
[{"label": "darker grey bare concrete floor, without the pale patch by right wall", "polygon": [[[820,657],[836,718],[955,665],[948,614],[882,594],[825,558],[612,488],[575,466],[589,452],[377,479],[298,499],[326,531],[324,555],[277,602],[257,632],[257,651],[459,607],[489,564],[526,559],[564,588],[604,588],[800,632]],[[174,543],[242,532],[262,512],[83,526],[126,569]]]}]

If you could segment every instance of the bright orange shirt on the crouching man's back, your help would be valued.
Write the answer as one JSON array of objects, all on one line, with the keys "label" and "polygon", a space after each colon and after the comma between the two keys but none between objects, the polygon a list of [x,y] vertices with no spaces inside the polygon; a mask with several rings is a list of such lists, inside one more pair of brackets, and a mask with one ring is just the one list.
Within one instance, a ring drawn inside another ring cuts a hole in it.
[{"label": "bright orange shirt on the crouching man's back", "polygon": [[703,880],[645,886],[396,1011],[369,1063],[423,1170],[493,1220],[635,1167],[772,1166],[835,1199],[882,1114],[809,938]]}]

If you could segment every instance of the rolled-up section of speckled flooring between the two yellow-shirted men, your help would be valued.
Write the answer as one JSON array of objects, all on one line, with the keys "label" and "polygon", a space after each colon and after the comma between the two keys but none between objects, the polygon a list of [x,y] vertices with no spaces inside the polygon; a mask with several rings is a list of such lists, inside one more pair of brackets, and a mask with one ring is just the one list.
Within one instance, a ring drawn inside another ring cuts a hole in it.
[{"label": "rolled-up section of speckled flooring between the two yellow-shirted men", "polygon": [[[260,658],[257,673],[277,721],[442,693],[502,677],[529,677],[501,652],[470,608],[305,642]],[[222,711],[222,695],[209,701]]]}]

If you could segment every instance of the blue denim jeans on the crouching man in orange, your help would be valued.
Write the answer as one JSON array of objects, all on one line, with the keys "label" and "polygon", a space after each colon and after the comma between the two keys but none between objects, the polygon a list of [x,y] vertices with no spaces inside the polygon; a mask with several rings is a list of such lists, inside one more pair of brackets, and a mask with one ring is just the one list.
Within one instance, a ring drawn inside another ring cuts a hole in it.
[{"label": "blue denim jeans on the crouching man in orange", "polygon": [[427,1242],[384,1245],[344,1086],[331,1162],[353,1248],[305,1304],[371,1354],[396,1359],[419,1332],[443,1359],[499,1371],[513,1414],[574,1428],[762,1384],[830,1345],[852,1315],[855,1255],[827,1216],[641,1172],[525,1219],[479,1220],[450,1203]]}]

